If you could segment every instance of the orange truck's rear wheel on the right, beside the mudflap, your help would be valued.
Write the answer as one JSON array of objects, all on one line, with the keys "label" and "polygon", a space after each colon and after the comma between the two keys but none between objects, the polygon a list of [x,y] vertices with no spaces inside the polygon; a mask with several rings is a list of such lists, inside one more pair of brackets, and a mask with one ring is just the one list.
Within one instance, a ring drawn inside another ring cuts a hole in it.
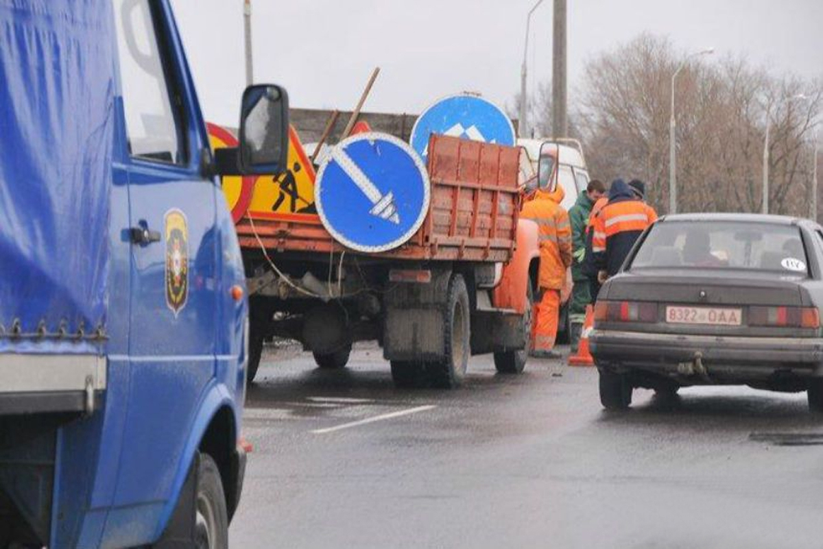
[{"label": "orange truck's rear wheel on the right, beside the mudflap", "polygon": [[469,315],[466,282],[461,275],[454,274],[444,311],[445,357],[426,363],[429,381],[437,389],[453,389],[466,376],[472,335]]}]

